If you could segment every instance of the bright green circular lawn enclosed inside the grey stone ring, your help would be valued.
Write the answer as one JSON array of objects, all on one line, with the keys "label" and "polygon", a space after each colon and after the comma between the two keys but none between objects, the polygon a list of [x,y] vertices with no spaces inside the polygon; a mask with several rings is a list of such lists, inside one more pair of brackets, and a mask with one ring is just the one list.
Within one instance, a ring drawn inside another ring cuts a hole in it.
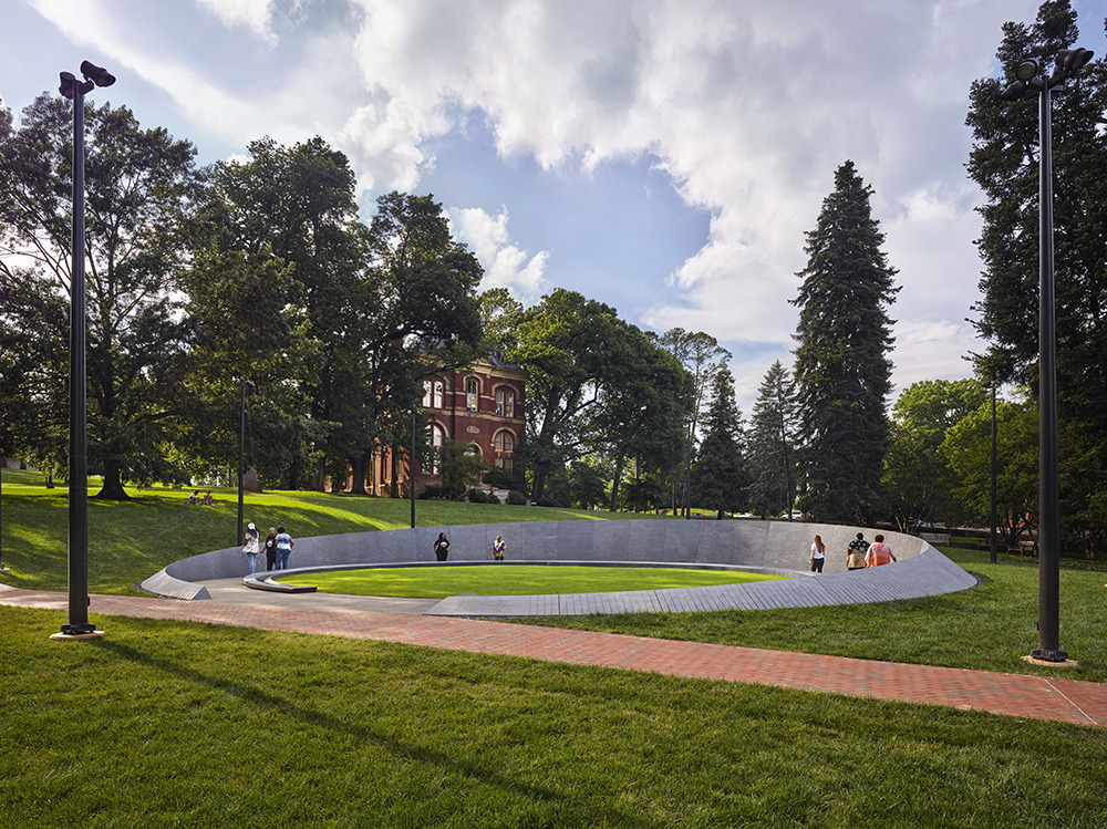
[{"label": "bright green circular lawn enclosed inside the grey stone ring", "polygon": [[400,567],[297,573],[288,581],[313,584],[324,593],[350,595],[545,595],[602,593],[617,590],[664,590],[706,584],[735,584],[782,578],[734,570],[670,567],[575,567],[558,564],[480,564],[474,567]]}]

